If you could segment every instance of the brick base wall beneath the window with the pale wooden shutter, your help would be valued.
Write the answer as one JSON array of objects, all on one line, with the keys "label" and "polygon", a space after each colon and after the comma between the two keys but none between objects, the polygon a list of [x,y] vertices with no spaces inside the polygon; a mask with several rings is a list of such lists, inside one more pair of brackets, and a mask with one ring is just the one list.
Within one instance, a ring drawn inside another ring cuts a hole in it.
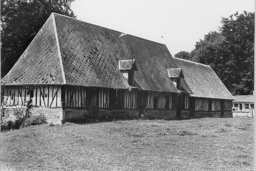
[{"label": "brick base wall beneath the window with the pale wooden shutter", "polygon": [[144,112],[144,119],[165,119],[172,120],[176,118],[176,112],[172,110],[148,109]]}]

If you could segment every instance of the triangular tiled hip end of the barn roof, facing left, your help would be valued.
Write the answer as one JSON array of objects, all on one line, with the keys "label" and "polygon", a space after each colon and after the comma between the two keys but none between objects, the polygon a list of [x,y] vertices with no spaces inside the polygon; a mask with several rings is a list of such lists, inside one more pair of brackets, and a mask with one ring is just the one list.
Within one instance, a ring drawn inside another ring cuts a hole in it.
[{"label": "triangular tiled hip end of the barn roof, facing left", "polygon": [[3,78],[6,85],[64,84],[53,15]]}]

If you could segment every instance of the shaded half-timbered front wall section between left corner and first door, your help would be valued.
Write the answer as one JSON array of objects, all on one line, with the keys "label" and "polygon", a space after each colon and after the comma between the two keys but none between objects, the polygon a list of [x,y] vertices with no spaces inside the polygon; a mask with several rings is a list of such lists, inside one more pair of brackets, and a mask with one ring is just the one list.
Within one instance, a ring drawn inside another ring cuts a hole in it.
[{"label": "shaded half-timbered front wall section between left corner and first door", "polygon": [[86,107],[86,88],[66,86],[65,107]]}]

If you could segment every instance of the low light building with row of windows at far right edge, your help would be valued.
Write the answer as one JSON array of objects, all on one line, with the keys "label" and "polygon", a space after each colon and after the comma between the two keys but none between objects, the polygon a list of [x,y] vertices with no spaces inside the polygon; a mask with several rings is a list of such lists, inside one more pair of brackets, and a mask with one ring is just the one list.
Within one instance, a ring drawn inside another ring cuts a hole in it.
[{"label": "low light building with row of windows at far right edge", "polygon": [[254,95],[237,95],[232,102],[233,116],[254,116]]}]

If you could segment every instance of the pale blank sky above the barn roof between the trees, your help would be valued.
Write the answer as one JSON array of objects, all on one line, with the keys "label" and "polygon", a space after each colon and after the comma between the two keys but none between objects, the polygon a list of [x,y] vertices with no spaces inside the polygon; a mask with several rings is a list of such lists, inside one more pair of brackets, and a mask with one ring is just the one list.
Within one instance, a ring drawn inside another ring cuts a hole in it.
[{"label": "pale blank sky above the barn roof between the trees", "polygon": [[75,0],[77,19],[167,46],[172,56],[192,51],[221,17],[254,12],[254,0]]}]

